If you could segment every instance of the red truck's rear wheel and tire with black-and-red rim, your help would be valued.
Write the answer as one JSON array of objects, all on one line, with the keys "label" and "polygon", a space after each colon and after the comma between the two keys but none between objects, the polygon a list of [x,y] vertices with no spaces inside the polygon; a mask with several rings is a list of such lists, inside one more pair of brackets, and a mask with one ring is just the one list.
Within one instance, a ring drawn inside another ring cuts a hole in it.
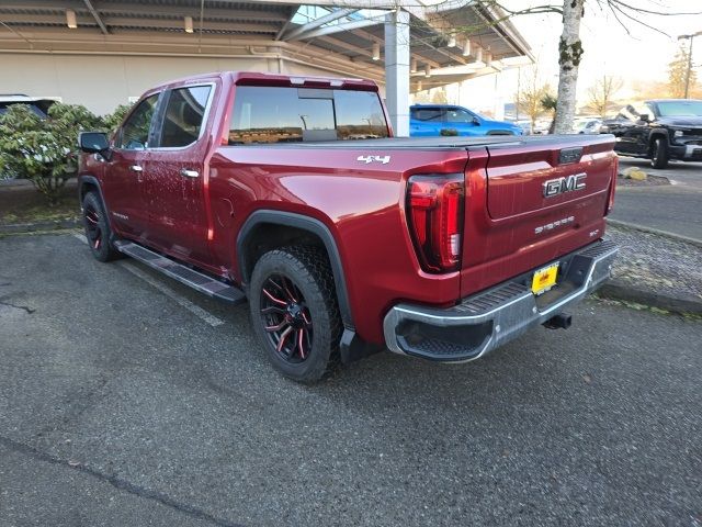
[{"label": "red truck's rear wheel and tire with black-and-red rim", "polygon": [[283,375],[312,383],[339,365],[341,317],[326,253],[297,246],[265,253],[249,288],[259,343]]}]

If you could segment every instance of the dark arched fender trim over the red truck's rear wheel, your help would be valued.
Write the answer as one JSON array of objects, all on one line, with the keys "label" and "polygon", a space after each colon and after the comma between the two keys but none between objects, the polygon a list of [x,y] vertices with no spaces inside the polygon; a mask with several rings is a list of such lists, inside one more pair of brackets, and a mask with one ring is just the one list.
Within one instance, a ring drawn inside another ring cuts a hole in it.
[{"label": "dark arched fender trim over the red truck's rear wheel", "polygon": [[341,265],[341,255],[337,247],[337,242],[329,228],[319,220],[293,212],[275,211],[275,210],[258,210],[251,213],[241,226],[237,236],[237,262],[241,281],[246,282],[251,276],[252,269],[247,268],[246,264],[246,242],[257,225],[273,224],[299,228],[308,231],[321,239],[329,256],[331,264],[331,272],[333,273],[333,282],[337,290],[337,300],[339,302],[339,313],[346,328],[353,330],[353,315],[351,313],[351,304],[349,302],[349,293],[347,290],[347,280]]}]

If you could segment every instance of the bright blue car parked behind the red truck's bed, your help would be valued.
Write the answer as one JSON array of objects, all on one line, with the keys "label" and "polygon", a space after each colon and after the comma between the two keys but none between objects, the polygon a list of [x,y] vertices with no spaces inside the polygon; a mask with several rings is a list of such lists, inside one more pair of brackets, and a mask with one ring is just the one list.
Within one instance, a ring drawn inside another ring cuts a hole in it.
[{"label": "bright blue car parked behind the red truck's bed", "polygon": [[415,104],[409,108],[409,135],[522,135],[517,124],[490,121],[463,106],[451,104]]}]

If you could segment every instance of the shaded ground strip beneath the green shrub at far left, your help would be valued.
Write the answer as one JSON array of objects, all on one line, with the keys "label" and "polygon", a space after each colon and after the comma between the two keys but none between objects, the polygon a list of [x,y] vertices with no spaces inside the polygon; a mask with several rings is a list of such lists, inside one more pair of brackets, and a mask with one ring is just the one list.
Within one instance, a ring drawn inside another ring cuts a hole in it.
[{"label": "shaded ground strip beneath the green shrub at far left", "polygon": [[34,187],[0,188],[0,225],[42,223],[80,217],[76,188],[64,189],[58,203],[49,205]]}]

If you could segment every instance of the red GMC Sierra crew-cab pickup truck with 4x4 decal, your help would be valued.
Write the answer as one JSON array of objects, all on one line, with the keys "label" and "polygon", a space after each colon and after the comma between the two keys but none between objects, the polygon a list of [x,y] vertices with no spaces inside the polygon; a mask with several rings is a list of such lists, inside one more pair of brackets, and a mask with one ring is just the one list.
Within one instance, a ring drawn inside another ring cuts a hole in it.
[{"label": "red GMC Sierra crew-cab pickup truck with 4x4 decal", "polygon": [[384,348],[460,362],[567,327],[618,250],[611,135],[394,138],[364,80],[192,77],[79,143],[93,256],[248,300],[297,381]]}]

